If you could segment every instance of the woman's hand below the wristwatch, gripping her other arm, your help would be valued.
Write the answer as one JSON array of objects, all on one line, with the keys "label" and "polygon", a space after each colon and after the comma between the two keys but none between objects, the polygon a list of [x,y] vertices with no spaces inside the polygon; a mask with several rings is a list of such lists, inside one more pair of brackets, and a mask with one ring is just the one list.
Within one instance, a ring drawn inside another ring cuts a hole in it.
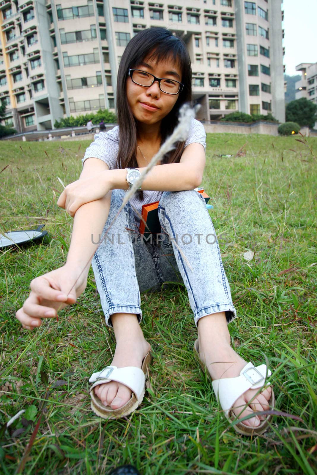
[{"label": "woman's hand below the wristwatch, gripping her other arm", "polygon": [[83,178],[67,185],[58,198],[58,206],[66,209],[74,218],[77,209],[85,203],[103,198],[112,189],[110,180],[103,172],[92,178]]}]

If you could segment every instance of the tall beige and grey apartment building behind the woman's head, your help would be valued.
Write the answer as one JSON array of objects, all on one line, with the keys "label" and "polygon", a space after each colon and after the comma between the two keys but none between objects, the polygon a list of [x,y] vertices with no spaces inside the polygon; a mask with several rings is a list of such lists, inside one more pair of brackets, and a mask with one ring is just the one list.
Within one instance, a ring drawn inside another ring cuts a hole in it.
[{"label": "tall beige and grey apartment building behind the woman's head", "polygon": [[115,111],[128,41],[164,26],[192,60],[198,119],[241,111],[284,121],[282,0],[0,0],[0,99],[18,131]]}]

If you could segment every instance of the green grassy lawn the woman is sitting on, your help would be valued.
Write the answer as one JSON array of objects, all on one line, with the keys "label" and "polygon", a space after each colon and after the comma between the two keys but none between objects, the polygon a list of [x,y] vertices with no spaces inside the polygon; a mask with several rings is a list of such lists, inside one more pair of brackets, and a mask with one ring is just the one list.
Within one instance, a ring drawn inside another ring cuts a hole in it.
[{"label": "green grassy lawn the woman is sitting on", "polygon": [[[0,254],[1,473],[107,474],[124,463],[142,475],[316,473],[317,139],[305,142],[207,135],[202,185],[238,313],[232,344],[274,370],[277,413],[252,439],[228,427],[194,359],[196,328],[182,285],[142,295],[154,355],[142,406],[126,419],[95,417],[88,378],[109,364],[115,339],[92,269],[85,293],[58,321],[30,333],[15,319],[31,279],[66,259],[72,218],[56,204],[57,177],[77,180],[88,142],[0,142],[0,232],[45,224],[49,234],[43,245]],[[218,157],[243,145],[244,156]]]}]

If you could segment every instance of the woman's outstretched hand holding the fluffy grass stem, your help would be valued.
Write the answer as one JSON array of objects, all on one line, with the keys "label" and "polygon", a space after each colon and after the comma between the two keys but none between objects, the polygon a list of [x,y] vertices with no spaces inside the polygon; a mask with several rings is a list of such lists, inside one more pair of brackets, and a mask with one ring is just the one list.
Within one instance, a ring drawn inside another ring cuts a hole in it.
[{"label": "woman's outstretched hand holding the fluffy grass stem", "polygon": [[80,269],[67,264],[36,277],[31,281],[30,295],[16,317],[23,328],[33,330],[42,324],[41,318],[54,318],[59,310],[74,304],[86,284],[87,271],[80,274]]}]

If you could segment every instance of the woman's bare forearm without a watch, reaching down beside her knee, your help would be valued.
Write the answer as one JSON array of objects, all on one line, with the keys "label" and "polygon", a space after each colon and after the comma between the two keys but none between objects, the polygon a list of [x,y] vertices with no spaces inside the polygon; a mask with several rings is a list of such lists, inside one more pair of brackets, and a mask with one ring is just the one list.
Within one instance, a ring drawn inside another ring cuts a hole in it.
[{"label": "woman's bare forearm without a watch, reaching down beside her knee", "polygon": [[108,218],[110,202],[111,192],[102,199],[85,203],[76,211],[67,264],[85,270],[86,274]]}]

